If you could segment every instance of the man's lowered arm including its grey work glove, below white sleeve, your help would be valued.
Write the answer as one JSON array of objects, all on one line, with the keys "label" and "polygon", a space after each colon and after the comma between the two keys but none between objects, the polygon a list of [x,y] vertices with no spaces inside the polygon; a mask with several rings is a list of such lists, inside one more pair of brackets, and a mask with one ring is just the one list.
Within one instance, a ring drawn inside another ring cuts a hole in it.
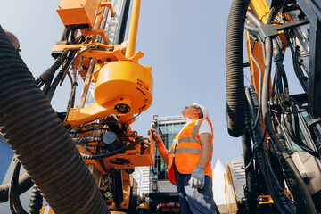
[{"label": "man's lowered arm including its grey work glove, below white sleeve", "polygon": [[200,134],[200,141],[202,144],[201,158],[196,168],[193,170],[191,179],[188,183],[192,188],[202,189],[205,185],[205,168],[210,161],[211,152],[211,135],[210,133]]}]

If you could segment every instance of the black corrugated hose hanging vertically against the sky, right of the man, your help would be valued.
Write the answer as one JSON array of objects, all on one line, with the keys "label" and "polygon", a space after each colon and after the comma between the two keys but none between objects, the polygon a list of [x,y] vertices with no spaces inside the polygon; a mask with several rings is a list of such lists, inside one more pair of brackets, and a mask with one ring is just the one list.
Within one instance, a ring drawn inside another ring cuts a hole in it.
[{"label": "black corrugated hose hanging vertically against the sky, right of the man", "polygon": [[245,128],[243,33],[249,3],[249,0],[233,0],[226,29],[227,129],[234,137],[242,136]]}]

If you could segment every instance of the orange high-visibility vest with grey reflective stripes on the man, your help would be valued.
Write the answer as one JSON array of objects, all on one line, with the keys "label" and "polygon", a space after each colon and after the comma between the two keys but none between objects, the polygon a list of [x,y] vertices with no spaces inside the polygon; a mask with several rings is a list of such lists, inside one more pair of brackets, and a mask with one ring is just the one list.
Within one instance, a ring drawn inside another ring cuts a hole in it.
[{"label": "orange high-visibility vest with grey reflective stripes on the man", "polygon": [[[175,161],[175,167],[181,174],[191,174],[193,169],[196,168],[201,158],[202,144],[200,142],[199,129],[202,121],[207,119],[210,123],[210,128],[213,133],[213,127],[210,119],[202,118],[197,119],[188,124],[181,133],[177,133],[173,140],[173,144],[169,152],[169,166],[168,177],[169,181],[176,185],[175,171],[173,163]],[[179,134],[179,136],[178,136]],[[211,136],[211,152],[210,161],[206,165],[205,175],[212,177],[211,158],[213,155],[213,135]]]}]

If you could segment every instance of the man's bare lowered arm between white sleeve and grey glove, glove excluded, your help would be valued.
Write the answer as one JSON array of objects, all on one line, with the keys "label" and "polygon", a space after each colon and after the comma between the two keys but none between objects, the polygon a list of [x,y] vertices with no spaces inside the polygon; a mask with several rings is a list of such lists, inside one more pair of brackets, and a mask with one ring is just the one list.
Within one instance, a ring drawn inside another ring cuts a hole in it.
[{"label": "man's bare lowered arm between white sleeve and grey glove, glove excluded", "polygon": [[212,151],[210,133],[202,133],[200,135],[200,141],[202,144],[202,151],[201,151],[201,158],[197,166],[205,169],[206,165],[210,161],[210,152]]}]

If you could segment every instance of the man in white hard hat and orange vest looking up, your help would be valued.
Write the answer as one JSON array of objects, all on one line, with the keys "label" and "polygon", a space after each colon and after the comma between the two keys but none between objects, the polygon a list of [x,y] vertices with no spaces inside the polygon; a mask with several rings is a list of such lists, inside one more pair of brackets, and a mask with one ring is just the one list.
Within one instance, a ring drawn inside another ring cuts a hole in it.
[{"label": "man in white hard hat and orange vest looking up", "polygon": [[180,212],[218,213],[212,190],[213,128],[209,112],[201,104],[192,103],[182,113],[186,124],[174,138],[170,151],[154,129],[152,138],[168,164],[169,181],[177,185]]}]

